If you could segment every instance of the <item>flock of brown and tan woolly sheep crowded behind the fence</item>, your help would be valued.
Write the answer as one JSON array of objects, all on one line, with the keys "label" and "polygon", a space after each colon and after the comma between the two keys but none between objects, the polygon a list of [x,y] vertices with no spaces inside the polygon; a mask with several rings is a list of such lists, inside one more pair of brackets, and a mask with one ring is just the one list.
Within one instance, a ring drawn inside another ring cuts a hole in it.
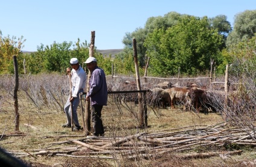
[{"label": "flock of brown and tan woolly sheep crowded behind the fence", "polygon": [[[206,91],[199,88],[195,83],[190,83],[187,87],[178,87],[170,82],[163,82],[155,84],[153,88],[144,88],[142,90],[149,90],[147,92],[147,105],[152,108],[168,108],[174,109],[177,106],[183,106],[184,110],[192,110],[195,112],[213,111],[211,100],[206,96]],[[114,82],[109,83],[110,91],[133,91],[137,90],[136,82]],[[116,94],[115,100],[119,102],[138,102],[138,94],[123,93]]]}]

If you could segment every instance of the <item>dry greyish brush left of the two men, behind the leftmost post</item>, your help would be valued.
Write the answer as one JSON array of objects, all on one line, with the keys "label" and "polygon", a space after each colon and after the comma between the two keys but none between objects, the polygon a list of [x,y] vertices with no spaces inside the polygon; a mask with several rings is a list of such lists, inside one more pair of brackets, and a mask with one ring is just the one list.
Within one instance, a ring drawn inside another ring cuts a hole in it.
[{"label": "dry greyish brush left of the two men, behind the leftmost post", "polygon": [[[2,106],[9,104],[10,99],[13,100],[14,76],[3,76],[0,80],[0,90],[5,97],[1,100]],[[6,93],[6,94],[4,94]],[[28,103],[31,107],[42,109],[45,107],[50,111],[63,110],[66,97],[69,94],[68,77],[60,74],[38,74],[19,77],[18,100],[20,109],[27,107]]]}]

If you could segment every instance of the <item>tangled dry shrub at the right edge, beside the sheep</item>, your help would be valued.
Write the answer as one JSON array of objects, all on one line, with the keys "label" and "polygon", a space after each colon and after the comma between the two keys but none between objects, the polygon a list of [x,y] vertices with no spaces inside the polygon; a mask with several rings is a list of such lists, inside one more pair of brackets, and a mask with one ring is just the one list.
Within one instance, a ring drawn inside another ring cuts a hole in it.
[{"label": "tangled dry shrub at the right edge, beside the sheep", "polygon": [[[236,79],[238,80],[238,79]],[[255,127],[256,87],[251,79],[242,79],[238,84],[231,84],[228,93],[228,106],[225,104],[225,93],[211,90],[208,93],[212,105],[230,124],[239,127]]]}]

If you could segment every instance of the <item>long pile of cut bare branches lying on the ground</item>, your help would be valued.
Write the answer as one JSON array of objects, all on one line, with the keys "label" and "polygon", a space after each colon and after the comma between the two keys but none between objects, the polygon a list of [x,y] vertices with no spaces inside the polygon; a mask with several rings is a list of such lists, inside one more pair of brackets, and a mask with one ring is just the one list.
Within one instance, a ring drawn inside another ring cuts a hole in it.
[{"label": "long pile of cut bare branches lying on the ground", "polygon": [[[182,158],[203,158],[211,156],[226,156],[240,154],[242,150],[217,151],[208,153],[193,153],[199,147],[225,147],[229,144],[255,146],[255,132],[249,128],[223,128],[223,127],[193,127],[188,129],[163,130],[159,133],[136,133],[124,137],[94,137],[84,135],[72,136],[43,136],[40,138],[75,138],[47,144],[46,147],[36,150],[9,151],[16,157],[37,155],[68,156],[82,158],[118,159],[126,157],[158,157],[165,153],[177,153]],[[83,137],[83,138],[81,138]],[[59,145],[59,147],[56,147]],[[190,150],[189,154],[188,151]]]}]

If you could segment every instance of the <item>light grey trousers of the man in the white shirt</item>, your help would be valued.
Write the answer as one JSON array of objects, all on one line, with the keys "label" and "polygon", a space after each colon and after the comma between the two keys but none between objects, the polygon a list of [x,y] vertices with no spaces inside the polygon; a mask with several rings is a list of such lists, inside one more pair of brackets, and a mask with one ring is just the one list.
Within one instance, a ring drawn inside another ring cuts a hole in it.
[{"label": "light grey trousers of the man in the white shirt", "polygon": [[[74,91],[74,87],[72,87],[72,93]],[[72,109],[73,109],[73,123],[75,124],[75,126],[80,126],[79,122],[78,122],[78,118],[77,118],[77,107],[79,105],[80,99],[79,99],[79,94],[82,93],[83,90],[79,90],[77,93],[77,97],[74,99],[74,101],[72,102]],[[64,106],[64,111],[66,113],[66,118],[67,118],[67,123],[71,124],[71,105],[69,102],[69,96],[68,96],[68,100],[66,100],[66,105]]]}]

